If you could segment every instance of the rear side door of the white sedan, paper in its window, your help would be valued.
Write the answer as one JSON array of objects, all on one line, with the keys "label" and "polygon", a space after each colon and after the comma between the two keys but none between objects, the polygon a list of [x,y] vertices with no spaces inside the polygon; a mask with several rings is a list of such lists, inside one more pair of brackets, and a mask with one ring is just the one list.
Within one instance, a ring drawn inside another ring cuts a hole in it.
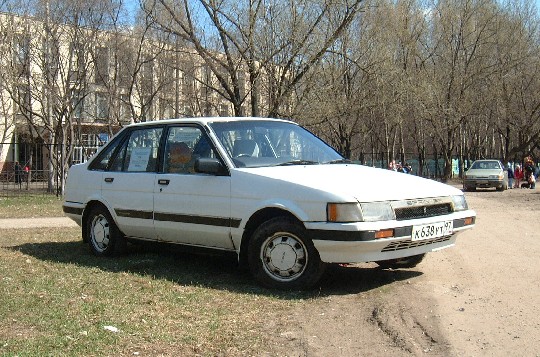
[{"label": "rear side door of the white sedan, paper in its window", "polygon": [[156,239],[153,196],[162,132],[163,127],[132,130],[103,172],[102,198],[127,236]]}]

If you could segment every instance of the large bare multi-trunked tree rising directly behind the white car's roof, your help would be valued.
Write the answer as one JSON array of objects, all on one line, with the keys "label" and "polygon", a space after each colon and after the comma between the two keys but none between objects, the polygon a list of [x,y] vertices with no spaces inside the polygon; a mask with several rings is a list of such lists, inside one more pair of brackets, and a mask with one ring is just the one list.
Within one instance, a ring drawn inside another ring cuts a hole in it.
[{"label": "large bare multi-trunked tree rising directly behind the white car's roof", "polygon": [[[216,78],[210,89],[232,104],[235,115],[244,115],[247,98],[251,114],[260,114],[265,82],[267,114],[278,116],[285,114],[280,108],[287,107],[295,86],[354,19],[360,3],[154,0],[145,3],[145,10],[156,14],[161,29],[193,46]],[[330,21],[336,12],[339,21]]]}]

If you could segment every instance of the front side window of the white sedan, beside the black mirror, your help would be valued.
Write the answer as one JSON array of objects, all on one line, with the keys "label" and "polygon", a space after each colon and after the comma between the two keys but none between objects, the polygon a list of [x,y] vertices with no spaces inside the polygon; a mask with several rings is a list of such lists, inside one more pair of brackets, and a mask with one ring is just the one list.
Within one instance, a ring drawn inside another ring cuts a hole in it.
[{"label": "front side window of the white sedan, beside the black mirror", "polygon": [[208,137],[198,127],[173,126],[169,128],[165,143],[163,172],[193,174],[195,160],[215,158]]}]

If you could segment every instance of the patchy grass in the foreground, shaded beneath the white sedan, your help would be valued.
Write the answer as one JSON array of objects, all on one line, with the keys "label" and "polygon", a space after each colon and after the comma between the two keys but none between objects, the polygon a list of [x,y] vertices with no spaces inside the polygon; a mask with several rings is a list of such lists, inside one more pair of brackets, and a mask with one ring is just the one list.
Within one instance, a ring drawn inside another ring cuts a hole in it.
[{"label": "patchy grass in the foreground, shaded beneath the white sedan", "polygon": [[310,314],[358,308],[334,296],[377,295],[418,274],[334,267],[317,291],[276,292],[234,257],[129,248],[100,258],[78,228],[0,229],[0,355],[289,355],[305,341],[283,333],[301,334]]}]

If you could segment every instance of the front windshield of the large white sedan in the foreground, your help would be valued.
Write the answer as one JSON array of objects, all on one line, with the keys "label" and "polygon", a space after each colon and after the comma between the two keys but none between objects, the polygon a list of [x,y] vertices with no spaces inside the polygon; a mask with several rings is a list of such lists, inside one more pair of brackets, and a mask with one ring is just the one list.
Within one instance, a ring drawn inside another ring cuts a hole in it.
[{"label": "front windshield of the large white sedan in the foreground", "polygon": [[237,167],[316,165],[344,161],[324,141],[293,123],[243,120],[209,124]]}]

